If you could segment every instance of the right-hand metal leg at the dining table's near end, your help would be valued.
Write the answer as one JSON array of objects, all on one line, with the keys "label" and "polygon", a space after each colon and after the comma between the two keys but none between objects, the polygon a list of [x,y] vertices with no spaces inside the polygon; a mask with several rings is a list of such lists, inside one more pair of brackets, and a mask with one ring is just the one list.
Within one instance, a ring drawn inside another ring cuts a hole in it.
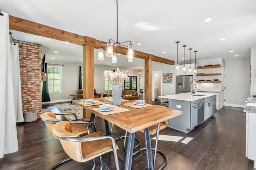
[{"label": "right-hand metal leg at the dining table's near end", "polygon": [[145,135],[145,145],[146,145],[146,152],[147,152],[147,160],[148,160],[148,169],[154,169],[153,166],[153,157],[152,157],[152,147],[151,147],[151,139],[150,139],[150,132],[149,127],[144,129]]}]

